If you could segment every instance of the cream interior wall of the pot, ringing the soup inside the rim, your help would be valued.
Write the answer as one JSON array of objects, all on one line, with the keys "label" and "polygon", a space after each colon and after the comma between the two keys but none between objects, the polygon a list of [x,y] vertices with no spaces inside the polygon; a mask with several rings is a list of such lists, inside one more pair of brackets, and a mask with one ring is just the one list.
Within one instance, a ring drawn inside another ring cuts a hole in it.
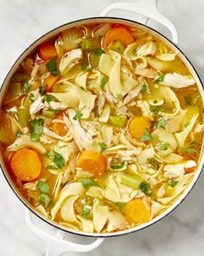
[{"label": "cream interior wall of the pot, ringing the soup inside the rim", "polygon": [[[10,78],[11,76],[15,73],[16,69],[18,68],[20,62],[22,62],[22,60],[28,56],[39,44],[41,44],[42,42],[48,40],[48,38],[57,35],[58,33],[60,33],[62,30],[67,30],[69,28],[72,28],[73,26],[80,26],[80,25],[85,25],[85,24],[91,24],[91,23],[122,23],[122,24],[126,24],[126,25],[130,25],[132,27],[136,27],[142,30],[146,30],[147,32],[149,32],[150,34],[154,35],[154,36],[158,36],[160,40],[163,40],[165,43],[167,43],[169,45],[169,48],[173,49],[176,54],[178,56],[181,57],[182,61],[188,66],[188,69],[190,70],[191,74],[194,76],[195,81],[198,84],[198,87],[200,89],[200,93],[201,93],[201,97],[202,97],[202,102],[204,104],[204,91],[203,91],[203,86],[201,84],[201,80],[199,78],[199,76],[197,75],[196,71],[194,70],[193,66],[191,65],[191,63],[188,61],[188,59],[186,58],[186,56],[184,56],[182,54],[182,52],[180,51],[180,49],[178,49],[177,47],[175,47],[175,45],[173,43],[170,43],[170,41],[163,37],[162,35],[158,34],[156,31],[151,30],[150,28],[136,23],[136,22],[131,22],[128,20],[124,20],[124,19],[119,19],[119,18],[90,18],[90,19],[85,19],[85,20],[80,20],[77,22],[73,22],[73,23],[67,23],[65,25],[62,25],[61,27],[52,30],[50,32],[48,32],[48,34],[41,36],[38,40],[35,41],[35,43],[31,44],[29,46],[28,49],[26,49],[22,55],[16,60],[16,62],[14,63],[14,65],[12,66],[12,68],[10,69],[9,74],[6,76],[3,85],[1,87],[1,91],[0,91],[0,106],[2,106],[2,102],[3,102],[3,97],[6,93],[6,89],[8,87],[8,83],[10,82]],[[203,149],[202,149],[203,152]],[[49,224],[54,225],[57,228],[60,228],[64,231],[68,231],[69,233],[75,233],[75,234],[82,234],[82,235],[86,235],[86,236],[96,236],[96,237],[107,237],[107,236],[115,236],[115,235],[120,235],[120,234],[124,234],[124,233],[131,233],[133,231],[138,231],[140,229],[143,229],[146,226],[150,226],[151,224],[155,223],[158,220],[161,220],[164,216],[166,216],[167,214],[169,214],[176,206],[178,206],[182,200],[188,195],[189,191],[192,189],[192,187],[194,187],[194,183],[197,181],[197,179],[199,178],[200,174],[201,174],[201,169],[202,169],[202,163],[204,162],[204,156],[201,152],[201,159],[200,159],[200,166],[197,169],[196,174],[194,175],[194,179],[190,182],[188,188],[184,191],[184,193],[178,198],[178,200],[175,201],[175,203],[169,207],[166,211],[164,211],[162,214],[160,214],[159,216],[157,216],[155,219],[151,220],[148,223],[144,223],[143,225],[140,226],[136,226],[133,227],[129,230],[124,230],[121,232],[117,232],[117,233],[92,233],[92,234],[88,234],[88,233],[83,233],[83,232],[78,232],[78,231],[73,231],[70,230],[68,228],[66,228],[65,226],[60,226],[59,224],[55,223],[54,221],[51,220],[47,220],[44,216],[42,216],[40,213],[35,212],[35,210],[33,208],[31,208],[29,206],[29,203],[22,198],[22,195],[19,194],[14,182],[10,179],[10,175],[8,174],[6,167],[4,165],[3,162],[3,156],[2,154],[0,154],[0,161],[1,161],[1,167],[3,170],[3,174],[6,178],[6,180],[8,181],[8,183],[10,184],[10,187],[13,189],[13,191],[15,192],[15,194],[19,197],[20,200],[22,200],[22,202],[25,204],[25,206],[29,207],[30,210],[32,210],[38,217],[40,217],[42,220],[47,221]]]}]

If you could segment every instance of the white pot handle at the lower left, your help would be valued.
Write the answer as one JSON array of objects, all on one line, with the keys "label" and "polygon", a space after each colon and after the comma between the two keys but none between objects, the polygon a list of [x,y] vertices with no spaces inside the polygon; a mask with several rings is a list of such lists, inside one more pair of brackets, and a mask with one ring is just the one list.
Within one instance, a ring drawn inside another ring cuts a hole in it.
[{"label": "white pot handle at the lower left", "polygon": [[29,229],[35,233],[47,246],[46,256],[60,256],[62,253],[85,253],[96,249],[104,239],[99,238],[92,242],[92,244],[81,245],[64,240],[66,233],[57,230],[55,235],[50,235],[35,226],[31,212],[26,209],[25,219]]}]

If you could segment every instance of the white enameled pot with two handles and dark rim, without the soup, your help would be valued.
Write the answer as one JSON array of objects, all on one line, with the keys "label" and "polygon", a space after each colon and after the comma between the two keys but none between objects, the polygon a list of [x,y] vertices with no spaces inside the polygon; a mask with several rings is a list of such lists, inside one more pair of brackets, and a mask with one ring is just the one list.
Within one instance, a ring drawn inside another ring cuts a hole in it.
[{"label": "white enameled pot with two handles and dark rim, without the soup", "polygon": [[[157,10],[157,0],[140,0],[137,3],[113,3],[111,6],[107,7],[101,14],[101,16],[98,17],[92,17],[92,18],[86,18],[86,19],[81,19],[78,21],[73,21],[71,23],[64,24],[54,30],[49,31],[46,35],[41,36],[39,39],[35,41],[35,43],[31,44],[28,49],[26,49],[22,55],[16,60],[14,65],[11,67],[10,72],[6,76],[3,85],[1,87],[0,91],[0,102],[2,103],[3,101],[3,95],[5,95],[5,91],[7,89],[7,85],[10,81],[11,76],[14,74],[16,71],[17,67],[19,66],[20,62],[28,56],[39,44],[47,40],[49,37],[54,36],[58,33],[60,33],[63,30],[67,30],[69,28],[72,28],[74,26],[79,26],[79,25],[85,25],[85,24],[90,24],[90,23],[122,23],[126,25],[130,25],[132,27],[136,26],[137,28],[141,28],[143,30],[146,30],[150,34],[153,34],[154,36],[157,36],[161,40],[164,41],[164,43],[167,43],[171,49],[175,51],[175,53],[181,57],[182,61],[187,65],[188,69],[190,70],[191,74],[194,76],[194,80],[196,81],[198,88],[201,93],[202,101],[204,102],[204,90],[203,90],[203,85],[201,83],[201,79],[199,75],[196,73],[196,70],[194,69],[194,66],[192,65],[191,62],[189,62],[187,56],[185,56],[182,53],[182,50],[179,49],[176,46],[176,43],[178,43],[178,36],[177,32],[175,30],[174,25],[165,17],[163,16],[159,10]],[[131,21],[127,20],[124,18],[115,18],[115,17],[106,17],[108,13],[112,10],[131,10],[136,12],[137,14],[140,15],[139,21]],[[156,30],[151,29],[146,25],[148,22],[148,19],[151,18],[153,20],[156,20],[158,23],[162,23],[171,33],[172,36],[172,41],[170,41],[167,37],[163,36],[162,34],[158,33]],[[143,24],[144,23],[144,24]],[[132,232],[136,232],[138,230],[143,229],[144,227],[150,226],[153,223],[156,223],[158,220],[163,219],[164,216],[168,215],[171,213],[175,207],[181,204],[182,200],[185,199],[185,197],[188,195],[188,193],[191,191],[191,189],[194,187],[195,182],[198,180],[201,170],[203,167],[203,162],[204,162],[204,156],[201,154],[201,159],[200,159],[200,164],[197,168],[196,173],[194,174],[194,179],[190,182],[189,186],[187,189],[180,195],[178,200],[175,201],[174,204],[172,204],[166,211],[158,215],[156,218],[153,220],[150,220],[147,223],[144,223],[143,225],[140,226],[135,226],[131,229],[124,230],[124,231],[118,231],[116,233],[85,233],[82,231],[74,231],[66,228],[65,226],[60,226],[59,224],[55,223],[52,220],[46,219],[44,216],[42,216],[40,213],[37,213],[34,208],[30,207],[29,203],[22,198],[22,195],[18,192],[14,182],[10,179],[10,175],[8,174],[6,167],[3,162],[3,157],[0,155],[0,161],[1,161],[1,168],[4,174],[5,179],[8,181],[10,188],[14,191],[16,196],[19,198],[19,200],[22,201],[22,203],[27,207],[27,212],[26,212],[26,220],[27,224],[29,225],[30,229],[37,234],[38,236],[41,237],[42,240],[46,243],[48,246],[47,250],[47,255],[60,255],[61,253],[65,252],[88,252],[91,251],[92,249],[96,248],[101,244],[103,241],[103,238],[107,237],[112,237],[112,236],[118,236],[118,235],[123,235],[123,234],[128,234]],[[29,210],[28,210],[29,209]],[[48,233],[44,233],[40,228],[35,226],[35,224],[32,222],[31,213],[35,213],[35,215],[41,220],[46,221],[49,225],[54,226],[57,228],[57,236],[53,237],[49,235]],[[71,242],[67,242],[63,240],[63,235],[62,233],[74,233],[74,234],[79,234],[83,235],[85,237],[91,236],[98,238],[95,240],[92,244],[89,245],[79,245],[79,244],[74,244]]]}]

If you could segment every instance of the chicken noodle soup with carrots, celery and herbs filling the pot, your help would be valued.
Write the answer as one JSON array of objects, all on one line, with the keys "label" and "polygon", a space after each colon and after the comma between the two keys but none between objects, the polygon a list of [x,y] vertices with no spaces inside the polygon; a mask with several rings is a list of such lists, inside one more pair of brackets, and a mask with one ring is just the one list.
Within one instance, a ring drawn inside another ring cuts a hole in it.
[{"label": "chicken noodle soup with carrots, celery and herbs filling the pot", "polygon": [[1,111],[3,159],[36,211],[86,233],[141,225],[188,187],[201,154],[193,76],[121,24],[61,32],[20,64]]}]

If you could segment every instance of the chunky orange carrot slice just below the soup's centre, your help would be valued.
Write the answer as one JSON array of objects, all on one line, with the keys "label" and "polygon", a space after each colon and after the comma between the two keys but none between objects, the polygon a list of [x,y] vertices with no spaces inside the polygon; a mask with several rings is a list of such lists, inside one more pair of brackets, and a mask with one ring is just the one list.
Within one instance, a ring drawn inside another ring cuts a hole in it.
[{"label": "chunky orange carrot slice just below the soup's centre", "polygon": [[107,161],[103,154],[92,150],[85,150],[79,156],[77,167],[81,167],[86,172],[94,174],[94,177],[98,177],[105,173]]}]

